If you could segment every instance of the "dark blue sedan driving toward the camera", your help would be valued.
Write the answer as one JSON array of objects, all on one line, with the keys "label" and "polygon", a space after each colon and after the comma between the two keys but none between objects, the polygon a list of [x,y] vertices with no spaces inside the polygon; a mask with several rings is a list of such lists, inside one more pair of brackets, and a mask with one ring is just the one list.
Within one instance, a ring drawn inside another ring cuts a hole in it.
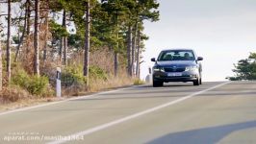
[{"label": "dark blue sedan driving toward the camera", "polygon": [[153,86],[168,82],[192,82],[202,84],[202,65],[192,49],[168,49],[159,54],[153,66]]}]

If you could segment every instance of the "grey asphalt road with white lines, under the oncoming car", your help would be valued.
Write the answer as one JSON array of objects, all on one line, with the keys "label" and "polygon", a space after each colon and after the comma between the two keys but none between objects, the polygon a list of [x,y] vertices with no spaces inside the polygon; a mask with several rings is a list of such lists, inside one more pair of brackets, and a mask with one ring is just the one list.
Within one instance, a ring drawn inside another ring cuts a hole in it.
[{"label": "grey asphalt road with white lines, under the oncoming car", "polygon": [[0,113],[0,143],[256,143],[256,82],[144,85]]}]

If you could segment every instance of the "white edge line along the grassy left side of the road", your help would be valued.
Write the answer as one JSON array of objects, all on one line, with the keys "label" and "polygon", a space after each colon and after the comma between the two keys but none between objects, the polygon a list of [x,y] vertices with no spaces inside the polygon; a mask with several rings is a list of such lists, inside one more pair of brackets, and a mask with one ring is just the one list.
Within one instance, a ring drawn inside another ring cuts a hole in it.
[{"label": "white edge line along the grassy left side of the road", "polygon": [[129,89],[129,88],[133,88],[133,87],[136,87],[136,85],[135,85],[135,86],[132,85],[132,86],[126,87],[126,88],[119,88],[119,89],[115,89],[115,90],[110,90],[110,91],[98,92],[98,93],[95,93],[95,94],[90,94],[90,95],[85,95],[85,96],[79,96],[79,97],[64,99],[64,100],[57,101],[57,102],[50,102],[50,103],[47,103],[47,104],[41,104],[41,105],[32,106],[32,107],[27,107],[27,108],[13,109],[13,110],[10,110],[10,111],[0,112],[0,116],[6,115],[6,114],[10,114],[10,113],[13,113],[13,112],[25,111],[25,110],[29,110],[29,109],[33,109],[33,108],[41,108],[41,107],[56,105],[56,104],[60,104],[60,103],[64,103],[64,102],[72,101],[72,100],[90,99],[90,98],[93,97],[93,96],[98,96],[98,95],[107,94],[107,93],[113,93],[113,92],[117,92],[117,91]]}]

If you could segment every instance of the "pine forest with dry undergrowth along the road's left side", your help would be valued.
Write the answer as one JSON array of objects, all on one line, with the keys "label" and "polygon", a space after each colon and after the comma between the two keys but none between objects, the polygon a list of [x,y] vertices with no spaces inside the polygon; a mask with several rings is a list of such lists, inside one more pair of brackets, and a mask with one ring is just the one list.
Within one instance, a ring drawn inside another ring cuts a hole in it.
[{"label": "pine forest with dry undergrowth along the road's left side", "polygon": [[81,95],[140,80],[156,0],[0,0],[0,102]]}]

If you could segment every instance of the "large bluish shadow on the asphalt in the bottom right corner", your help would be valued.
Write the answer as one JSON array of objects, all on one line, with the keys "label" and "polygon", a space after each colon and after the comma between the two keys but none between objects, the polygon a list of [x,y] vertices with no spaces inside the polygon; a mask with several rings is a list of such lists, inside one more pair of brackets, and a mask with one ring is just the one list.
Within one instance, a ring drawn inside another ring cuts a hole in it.
[{"label": "large bluish shadow on the asphalt in the bottom right corner", "polygon": [[[242,131],[245,129],[255,128],[256,121],[248,121],[237,124],[210,127],[187,132],[175,132],[166,134],[160,138],[148,142],[147,144],[200,144],[218,143],[222,138],[231,132]],[[256,141],[254,141],[255,143]]]}]

